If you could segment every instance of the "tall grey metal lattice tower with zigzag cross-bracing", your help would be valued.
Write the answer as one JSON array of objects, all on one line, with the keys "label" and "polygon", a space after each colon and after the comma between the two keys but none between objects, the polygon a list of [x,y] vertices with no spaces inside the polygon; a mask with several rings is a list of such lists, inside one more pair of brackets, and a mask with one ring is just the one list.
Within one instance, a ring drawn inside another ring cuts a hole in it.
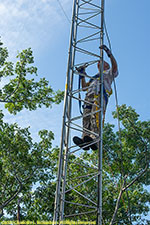
[{"label": "tall grey metal lattice tower with zigzag cross-bracing", "polygon": [[[104,0],[74,0],[53,224],[68,218],[88,220],[88,215],[93,215],[93,220],[102,225],[102,72],[99,99],[101,107],[95,112],[99,114],[100,127],[99,135],[95,134],[98,161],[95,164],[88,162],[83,157],[84,150],[75,146],[72,138],[74,135],[81,137],[83,132],[82,115],[78,110],[83,90],[78,87],[79,73],[76,67],[86,64],[87,74],[91,75],[85,76],[89,79],[98,72],[97,62],[101,59],[100,71],[103,71],[103,51],[99,49],[104,38],[103,24]],[[81,102],[84,103],[84,97],[82,99]],[[90,130],[85,132],[91,133]],[[73,172],[75,166],[80,168],[80,174]],[[92,194],[88,193],[88,182],[94,183],[96,199],[92,199]],[[80,201],[77,202],[77,198]]]}]

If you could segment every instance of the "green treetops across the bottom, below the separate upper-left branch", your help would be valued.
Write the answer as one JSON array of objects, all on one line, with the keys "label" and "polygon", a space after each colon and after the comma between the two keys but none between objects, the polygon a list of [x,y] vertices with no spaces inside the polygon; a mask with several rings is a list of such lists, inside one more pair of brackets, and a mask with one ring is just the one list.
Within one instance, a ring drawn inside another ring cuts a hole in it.
[{"label": "green treetops across the bottom, below the separate upper-left branch", "polygon": [[[113,130],[114,126],[106,124],[104,127],[103,223],[110,224],[123,185],[124,174],[126,183],[123,187],[128,185],[129,187],[122,193],[114,224],[128,225],[130,217],[132,223],[148,224],[150,221],[146,222],[142,216],[148,215],[148,204],[150,204],[150,194],[146,190],[146,186],[150,184],[150,122],[139,121],[136,112],[125,105],[119,108],[119,115],[120,120],[123,121],[122,124],[124,123],[121,129],[122,146],[120,146],[119,133]],[[116,116],[115,113],[114,116]],[[2,202],[15,193],[20,186],[19,179],[22,184],[21,219],[34,221],[52,219],[59,154],[58,148],[52,149],[53,133],[47,130],[40,131],[41,141],[33,143],[27,128],[21,129],[16,124],[3,123],[2,114],[0,114],[0,121],[2,134],[0,145],[3,146],[0,159]],[[82,159],[75,156],[69,158],[67,189],[76,186],[77,191],[95,202],[97,199],[96,177],[81,186],[77,185],[97,173],[97,152],[85,151],[81,157]],[[139,176],[146,167],[143,175]],[[131,182],[133,182],[132,185],[130,185]],[[15,197],[5,207],[11,219],[16,219],[18,198]],[[65,207],[66,214],[90,211],[91,208],[87,209],[69,203],[74,201],[78,204],[92,205],[88,199],[73,191],[68,191],[66,193],[66,201],[68,201]],[[84,214],[76,219],[96,220],[96,213]]]}]

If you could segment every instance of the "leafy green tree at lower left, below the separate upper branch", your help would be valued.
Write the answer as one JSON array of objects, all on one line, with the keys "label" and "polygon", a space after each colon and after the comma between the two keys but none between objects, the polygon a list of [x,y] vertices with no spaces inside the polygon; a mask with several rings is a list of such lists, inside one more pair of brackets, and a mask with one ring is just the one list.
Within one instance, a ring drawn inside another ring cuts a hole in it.
[{"label": "leafy green tree at lower left, below the separate upper branch", "polygon": [[[2,113],[0,115],[2,118]],[[50,184],[47,187],[48,182],[54,179],[54,162],[51,161],[52,152],[50,151],[54,135],[51,131],[46,130],[40,131],[39,135],[41,141],[33,143],[28,128],[21,129],[17,124],[9,125],[1,120],[0,208],[3,209],[7,206],[7,212],[14,218],[16,217],[17,199],[19,198],[18,195],[16,196],[18,190],[20,190],[18,194],[23,196],[23,209],[26,206],[32,206],[33,202],[33,207],[35,207],[37,213],[40,213],[37,207],[39,207],[38,201],[41,201],[41,193],[43,193],[42,198],[48,197],[48,193],[44,196],[43,189],[49,190],[50,194],[54,192],[53,186],[55,185]],[[12,201],[7,205],[11,198]],[[30,207],[26,208],[26,213],[29,211],[28,217],[30,219],[31,209]]]}]

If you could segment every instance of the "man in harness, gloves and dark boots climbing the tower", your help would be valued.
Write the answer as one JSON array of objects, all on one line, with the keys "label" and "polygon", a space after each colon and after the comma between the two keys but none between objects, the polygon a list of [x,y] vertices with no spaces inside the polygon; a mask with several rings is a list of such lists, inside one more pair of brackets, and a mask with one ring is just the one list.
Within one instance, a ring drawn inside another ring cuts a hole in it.
[{"label": "man in harness, gloves and dark boots climbing the tower", "polygon": [[[105,120],[105,112],[108,104],[108,98],[112,94],[111,84],[115,77],[118,76],[118,66],[117,62],[112,54],[112,52],[107,48],[106,45],[100,46],[103,49],[111,61],[110,65],[104,61],[103,63],[103,125]],[[93,78],[86,82],[85,67],[81,66],[76,68],[80,73],[81,84],[83,91],[87,91],[85,96],[85,102],[83,106],[83,135],[82,138],[77,136],[73,137],[73,142],[84,150],[97,149],[96,136],[93,133],[99,133],[99,121],[98,121],[98,111],[100,109],[98,97],[100,95],[100,62],[98,62],[99,73]],[[85,75],[85,76],[84,76]],[[95,142],[95,143],[93,143]],[[88,145],[88,146],[87,146]]]}]

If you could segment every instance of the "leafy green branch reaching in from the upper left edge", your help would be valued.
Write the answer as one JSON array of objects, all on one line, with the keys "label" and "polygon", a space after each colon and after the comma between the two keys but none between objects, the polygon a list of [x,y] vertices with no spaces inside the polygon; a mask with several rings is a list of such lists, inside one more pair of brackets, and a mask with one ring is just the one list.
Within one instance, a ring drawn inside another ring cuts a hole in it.
[{"label": "leafy green branch reaching in from the upper left edge", "polygon": [[[2,46],[2,43],[1,43]],[[5,108],[16,114],[23,108],[35,110],[37,107],[51,107],[53,103],[59,104],[63,100],[64,92],[54,92],[45,78],[36,81],[37,68],[33,66],[34,58],[31,48],[18,53],[18,61],[14,65],[7,62],[8,51],[0,47],[0,79],[8,80],[0,90],[0,102]]]}]

